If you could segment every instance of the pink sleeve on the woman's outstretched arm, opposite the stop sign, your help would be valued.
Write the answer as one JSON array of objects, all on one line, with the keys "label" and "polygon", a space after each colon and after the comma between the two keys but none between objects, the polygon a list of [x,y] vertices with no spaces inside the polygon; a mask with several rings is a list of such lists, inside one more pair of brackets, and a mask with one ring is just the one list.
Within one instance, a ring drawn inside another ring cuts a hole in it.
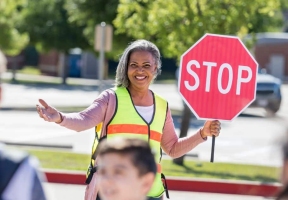
[{"label": "pink sleeve on the woman's outstretched arm, opposite the stop sign", "polygon": [[103,122],[108,107],[109,92],[103,91],[97,99],[85,110],[74,113],[61,113],[61,126],[75,131],[84,131]]}]

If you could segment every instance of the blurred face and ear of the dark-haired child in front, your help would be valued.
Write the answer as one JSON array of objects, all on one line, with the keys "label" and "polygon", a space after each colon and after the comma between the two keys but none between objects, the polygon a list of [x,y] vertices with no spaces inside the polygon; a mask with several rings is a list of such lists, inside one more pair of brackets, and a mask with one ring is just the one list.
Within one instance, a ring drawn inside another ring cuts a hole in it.
[{"label": "blurred face and ear of the dark-haired child in front", "polygon": [[150,190],[153,173],[139,175],[129,156],[102,155],[98,161],[99,194],[103,200],[144,200]]}]

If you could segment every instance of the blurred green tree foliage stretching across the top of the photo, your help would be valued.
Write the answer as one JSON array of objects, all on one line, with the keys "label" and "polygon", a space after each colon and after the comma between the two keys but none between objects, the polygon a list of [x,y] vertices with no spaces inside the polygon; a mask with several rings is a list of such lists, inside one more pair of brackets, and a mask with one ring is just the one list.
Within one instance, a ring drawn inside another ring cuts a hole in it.
[{"label": "blurred green tree foliage stretching across the top of the photo", "polygon": [[[93,49],[95,26],[114,28],[118,58],[138,38],[179,59],[205,33],[237,35],[277,31],[287,0],[0,0],[0,48],[18,54],[28,42],[39,49]],[[253,44],[248,44],[252,46]]]}]

